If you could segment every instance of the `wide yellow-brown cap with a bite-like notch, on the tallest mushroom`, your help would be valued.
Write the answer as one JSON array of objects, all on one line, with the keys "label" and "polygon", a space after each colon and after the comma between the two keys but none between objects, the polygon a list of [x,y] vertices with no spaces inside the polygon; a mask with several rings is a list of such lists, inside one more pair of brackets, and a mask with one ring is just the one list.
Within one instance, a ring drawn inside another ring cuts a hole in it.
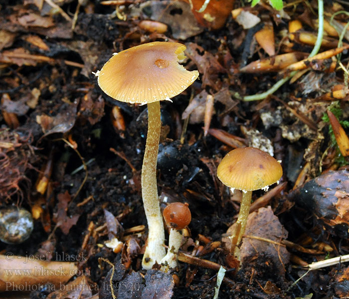
[{"label": "wide yellow-brown cap with a bite-like notch, on the tallest mushroom", "polygon": [[169,100],[192,84],[198,71],[187,71],[178,60],[186,47],[155,41],[121,51],[98,74],[98,84],[112,98],[147,104]]}]

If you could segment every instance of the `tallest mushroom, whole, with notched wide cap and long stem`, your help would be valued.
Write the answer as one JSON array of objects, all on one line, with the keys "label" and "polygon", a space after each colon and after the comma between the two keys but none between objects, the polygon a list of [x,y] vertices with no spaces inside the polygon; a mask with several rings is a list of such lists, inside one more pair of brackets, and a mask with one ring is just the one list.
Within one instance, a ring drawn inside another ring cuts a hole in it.
[{"label": "tallest mushroom, whole, with notched wide cap and long stem", "polygon": [[96,73],[98,84],[110,97],[148,105],[148,135],[142,166],[142,197],[149,233],[142,266],[151,269],[165,256],[165,231],[158,199],[156,166],[160,138],[160,101],[169,100],[192,84],[198,71],[187,71],[178,60],[185,46],[151,42],[115,53]]}]

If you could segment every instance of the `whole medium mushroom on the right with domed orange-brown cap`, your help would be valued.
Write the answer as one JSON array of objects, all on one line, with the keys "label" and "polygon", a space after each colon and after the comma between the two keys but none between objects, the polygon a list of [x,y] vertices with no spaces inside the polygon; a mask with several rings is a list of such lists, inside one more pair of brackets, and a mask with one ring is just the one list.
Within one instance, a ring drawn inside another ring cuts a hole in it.
[{"label": "whole medium mushroom on the right with domed orange-brown cap", "polygon": [[236,247],[245,232],[252,191],[268,190],[268,186],[282,176],[280,163],[268,153],[256,148],[238,148],[228,152],[217,168],[217,177],[231,188],[241,190],[242,200],[236,228],[231,238],[231,252],[238,256]]}]

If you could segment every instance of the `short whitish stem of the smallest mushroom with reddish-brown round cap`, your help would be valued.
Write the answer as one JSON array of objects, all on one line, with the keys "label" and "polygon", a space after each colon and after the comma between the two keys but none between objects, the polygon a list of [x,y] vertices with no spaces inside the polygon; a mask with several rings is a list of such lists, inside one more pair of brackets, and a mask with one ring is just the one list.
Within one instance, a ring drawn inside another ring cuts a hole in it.
[{"label": "short whitish stem of the smallest mushroom with reddish-brown round cap", "polygon": [[169,249],[166,256],[161,260],[161,270],[167,272],[170,268],[177,267],[177,253],[182,242],[182,230],[171,228],[169,237]]}]

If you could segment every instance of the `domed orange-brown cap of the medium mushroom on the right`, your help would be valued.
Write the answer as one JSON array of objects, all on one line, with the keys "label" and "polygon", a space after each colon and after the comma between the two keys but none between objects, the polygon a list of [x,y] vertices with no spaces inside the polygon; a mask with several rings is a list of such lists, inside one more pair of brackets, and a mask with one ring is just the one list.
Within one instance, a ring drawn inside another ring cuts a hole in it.
[{"label": "domed orange-brown cap of the medium mushroom on the right", "polygon": [[238,148],[225,155],[218,165],[217,176],[230,188],[253,191],[277,182],[282,176],[282,167],[263,150]]}]

